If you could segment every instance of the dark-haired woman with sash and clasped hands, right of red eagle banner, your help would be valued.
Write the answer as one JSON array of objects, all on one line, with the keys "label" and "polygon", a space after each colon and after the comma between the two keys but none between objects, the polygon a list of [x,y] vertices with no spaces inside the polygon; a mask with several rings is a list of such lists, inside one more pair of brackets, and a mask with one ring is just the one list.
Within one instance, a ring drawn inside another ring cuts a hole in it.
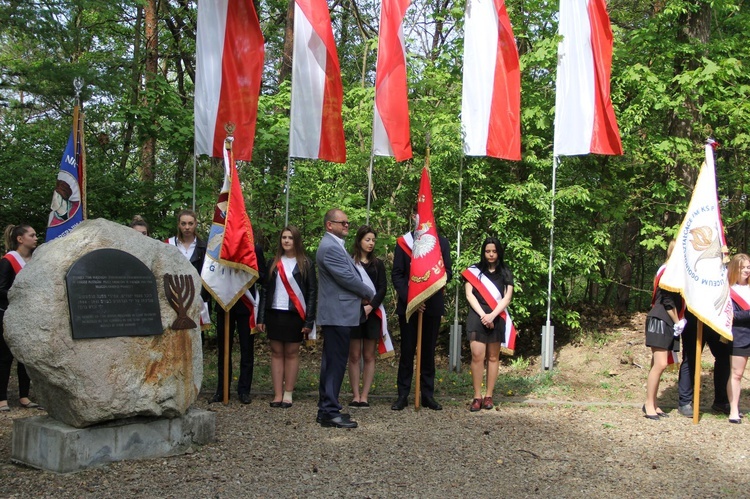
[{"label": "dark-haired woman with sash and clasped hands, right of red eagle banner", "polygon": [[[505,247],[496,237],[482,243],[479,263],[466,269],[466,300],[469,316],[466,335],[471,347],[471,379],[474,399],[469,410],[492,409],[492,391],[500,367],[500,345],[505,338],[508,304],[513,297],[513,273],[505,265]],[[487,359],[487,390],[482,398],[484,361]]]}]

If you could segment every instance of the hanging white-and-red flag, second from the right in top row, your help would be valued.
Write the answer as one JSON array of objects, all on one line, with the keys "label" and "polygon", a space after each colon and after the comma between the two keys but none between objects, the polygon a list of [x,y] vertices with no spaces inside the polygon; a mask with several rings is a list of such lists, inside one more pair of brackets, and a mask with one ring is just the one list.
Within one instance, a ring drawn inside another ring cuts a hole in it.
[{"label": "hanging white-and-red flag, second from the right in top row", "polygon": [[464,153],[520,160],[521,71],[505,0],[468,0],[464,31]]}]

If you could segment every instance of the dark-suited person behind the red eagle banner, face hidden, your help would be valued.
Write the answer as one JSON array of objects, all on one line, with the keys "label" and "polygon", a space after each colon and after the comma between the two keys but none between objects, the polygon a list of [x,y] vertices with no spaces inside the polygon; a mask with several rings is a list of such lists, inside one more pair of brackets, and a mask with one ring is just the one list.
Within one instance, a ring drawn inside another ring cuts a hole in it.
[{"label": "dark-suited person behind the red eagle banner, face hidden", "polygon": [[[416,219],[416,209],[412,213],[412,220]],[[448,240],[438,235],[440,251],[443,254],[446,277],[451,280],[451,253]],[[410,320],[406,320],[406,303],[409,295],[409,272],[411,270],[411,245],[413,234],[407,234],[399,238],[396,251],[393,255],[393,269],[391,270],[391,281],[398,294],[396,314],[398,325],[401,330],[401,358],[398,363],[398,375],[396,386],[398,387],[398,398],[391,406],[394,411],[403,410],[409,403],[409,392],[411,391],[411,379],[414,375],[414,355],[417,353],[417,322],[419,316],[414,313]],[[446,281],[446,282],[448,282]],[[440,331],[440,321],[445,314],[445,288],[440,289],[432,295],[419,309],[422,312],[422,366],[420,372],[420,391],[422,405],[439,411],[443,406],[435,400],[435,346]]]}]

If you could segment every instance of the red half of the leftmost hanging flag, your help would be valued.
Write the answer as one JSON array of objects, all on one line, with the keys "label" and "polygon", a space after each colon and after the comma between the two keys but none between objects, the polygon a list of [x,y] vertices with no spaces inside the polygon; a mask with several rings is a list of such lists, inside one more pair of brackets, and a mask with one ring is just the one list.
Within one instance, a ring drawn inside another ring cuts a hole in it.
[{"label": "red half of the leftmost hanging flag", "polygon": [[250,0],[229,0],[226,23],[212,156],[224,154],[224,125],[232,122],[234,157],[250,161],[263,74],[263,34]]}]

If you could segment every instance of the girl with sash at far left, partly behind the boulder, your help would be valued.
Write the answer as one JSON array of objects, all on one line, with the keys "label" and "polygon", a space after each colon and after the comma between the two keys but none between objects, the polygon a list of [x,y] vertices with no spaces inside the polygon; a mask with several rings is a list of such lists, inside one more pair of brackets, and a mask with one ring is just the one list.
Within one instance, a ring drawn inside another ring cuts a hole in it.
[{"label": "girl with sash at far left, partly behind the boulder", "polygon": [[[36,232],[29,225],[9,225],[5,228],[5,248],[8,253],[0,258],[0,412],[10,411],[8,407],[8,382],[10,381],[10,368],[13,364],[13,354],[5,343],[3,336],[3,318],[8,308],[8,290],[13,285],[21,269],[31,260],[31,254],[36,248]],[[18,397],[21,407],[30,409],[39,407],[29,400],[29,388],[31,380],[26,373],[26,367],[17,362],[18,373]]]}]

